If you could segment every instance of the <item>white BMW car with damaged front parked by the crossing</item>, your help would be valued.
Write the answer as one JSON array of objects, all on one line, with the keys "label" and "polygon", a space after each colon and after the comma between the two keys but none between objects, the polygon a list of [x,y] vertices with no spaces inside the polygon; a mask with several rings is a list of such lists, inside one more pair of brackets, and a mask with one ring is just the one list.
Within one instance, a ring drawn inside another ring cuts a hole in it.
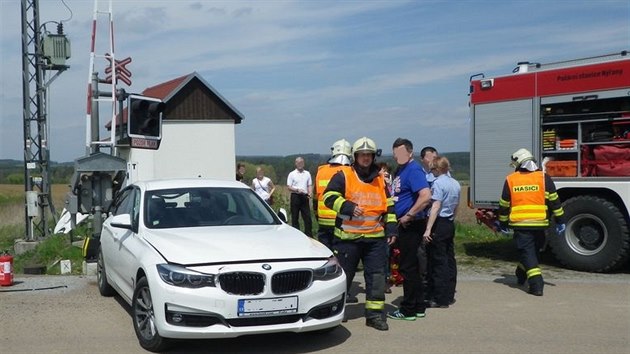
[{"label": "white BMW car with damaged front parked by the crossing", "polygon": [[99,291],[131,305],[145,349],[170,338],[327,330],[343,319],[346,276],[332,252],[242,183],[138,182],[109,212]]}]

